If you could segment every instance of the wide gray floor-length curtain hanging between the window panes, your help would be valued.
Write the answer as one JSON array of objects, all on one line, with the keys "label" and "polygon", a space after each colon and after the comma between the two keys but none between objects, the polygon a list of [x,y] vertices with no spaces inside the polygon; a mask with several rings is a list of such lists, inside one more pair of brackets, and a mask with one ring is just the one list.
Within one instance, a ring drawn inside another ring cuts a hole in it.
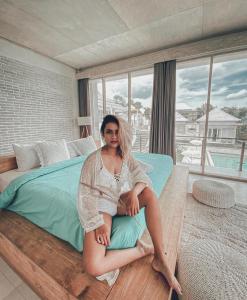
[{"label": "wide gray floor-length curtain hanging between the window panes", "polygon": [[175,150],[176,61],[154,65],[149,152],[172,156]]}]

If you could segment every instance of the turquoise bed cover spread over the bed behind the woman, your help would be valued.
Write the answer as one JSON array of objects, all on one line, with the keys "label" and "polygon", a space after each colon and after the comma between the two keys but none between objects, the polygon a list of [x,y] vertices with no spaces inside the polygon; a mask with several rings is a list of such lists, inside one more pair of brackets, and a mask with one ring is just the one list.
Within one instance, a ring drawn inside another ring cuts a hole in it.
[{"label": "turquoise bed cover spread over the bed behind the woman", "polygon": [[[159,197],[172,173],[170,156],[134,152],[134,157],[151,164],[153,189]],[[13,211],[49,233],[83,249],[83,228],[76,200],[81,168],[86,156],[79,156],[39,168],[13,180],[0,194],[0,208]],[[146,228],[144,209],[134,217],[113,218],[108,249],[134,247]]]}]

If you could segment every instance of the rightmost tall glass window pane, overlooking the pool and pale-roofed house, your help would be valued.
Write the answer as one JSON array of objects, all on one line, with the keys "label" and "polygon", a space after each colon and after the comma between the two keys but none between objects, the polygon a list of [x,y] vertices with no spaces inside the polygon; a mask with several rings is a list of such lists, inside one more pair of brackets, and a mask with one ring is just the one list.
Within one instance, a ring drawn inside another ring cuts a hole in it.
[{"label": "rightmost tall glass window pane, overlooking the pool and pale-roofed house", "polygon": [[[237,175],[246,140],[247,53],[215,56],[206,148],[211,163],[205,170]],[[242,170],[247,174],[247,155]]]}]

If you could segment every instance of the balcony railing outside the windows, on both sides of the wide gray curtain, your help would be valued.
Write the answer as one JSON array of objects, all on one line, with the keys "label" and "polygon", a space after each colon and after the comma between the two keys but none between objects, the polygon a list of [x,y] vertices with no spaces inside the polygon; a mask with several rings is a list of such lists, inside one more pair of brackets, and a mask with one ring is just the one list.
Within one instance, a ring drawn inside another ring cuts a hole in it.
[{"label": "balcony railing outside the windows, on both sides of the wide gray curtain", "polygon": [[[149,151],[149,130],[136,130],[133,134],[133,151],[148,152]],[[201,144],[193,144],[201,141]],[[192,142],[192,143],[191,143]],[[204,145],[206,143],[206,145]],[[247,170],[247,158],[245,155],[246,141],[236,138],[213,138],[198,136],[182,136],[176,135],[176,152],[177,163],[183,163],[184,156],[192,157],[192,162],[184,162],[187,165],[202,165],[202,149],[205,147],[205,162],[207,166],[214,168],[235,169],[240,172]],[[194,149],[190,151],[191,149]],[[187,153],[186,153],[186,150]],[[182,154],[185,154],[183,155]],[[231,162],[232,160],[232,166]],[[224,165],[224,162],[228,162]],[[237,167],[236,167],[237,165]]]}]

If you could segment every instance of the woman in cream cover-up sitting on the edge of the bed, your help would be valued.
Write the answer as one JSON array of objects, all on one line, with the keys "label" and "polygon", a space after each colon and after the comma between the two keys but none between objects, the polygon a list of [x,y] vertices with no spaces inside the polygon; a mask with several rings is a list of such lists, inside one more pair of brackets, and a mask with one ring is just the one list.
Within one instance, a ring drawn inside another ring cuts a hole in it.
[{"label": "woman in cream cover-up sitting on the edge of the bed", "polygon": [[[83,263],[86,271],[112,284],[118,276],[118,268],[154,253],[153,269],[161,272],[171,288],[182,294],[168,268],[160,210],[151,181],[130,153],[132,136],[127,122],[107,115],[100,131],[105,145],[84,162],[77,202],[85,232]],[[154,247],[137,241],[134,248],[106,250],[110,244],[112,217],[116,214],[135,216],[142,207],[145,207],[146,224]]]}]

